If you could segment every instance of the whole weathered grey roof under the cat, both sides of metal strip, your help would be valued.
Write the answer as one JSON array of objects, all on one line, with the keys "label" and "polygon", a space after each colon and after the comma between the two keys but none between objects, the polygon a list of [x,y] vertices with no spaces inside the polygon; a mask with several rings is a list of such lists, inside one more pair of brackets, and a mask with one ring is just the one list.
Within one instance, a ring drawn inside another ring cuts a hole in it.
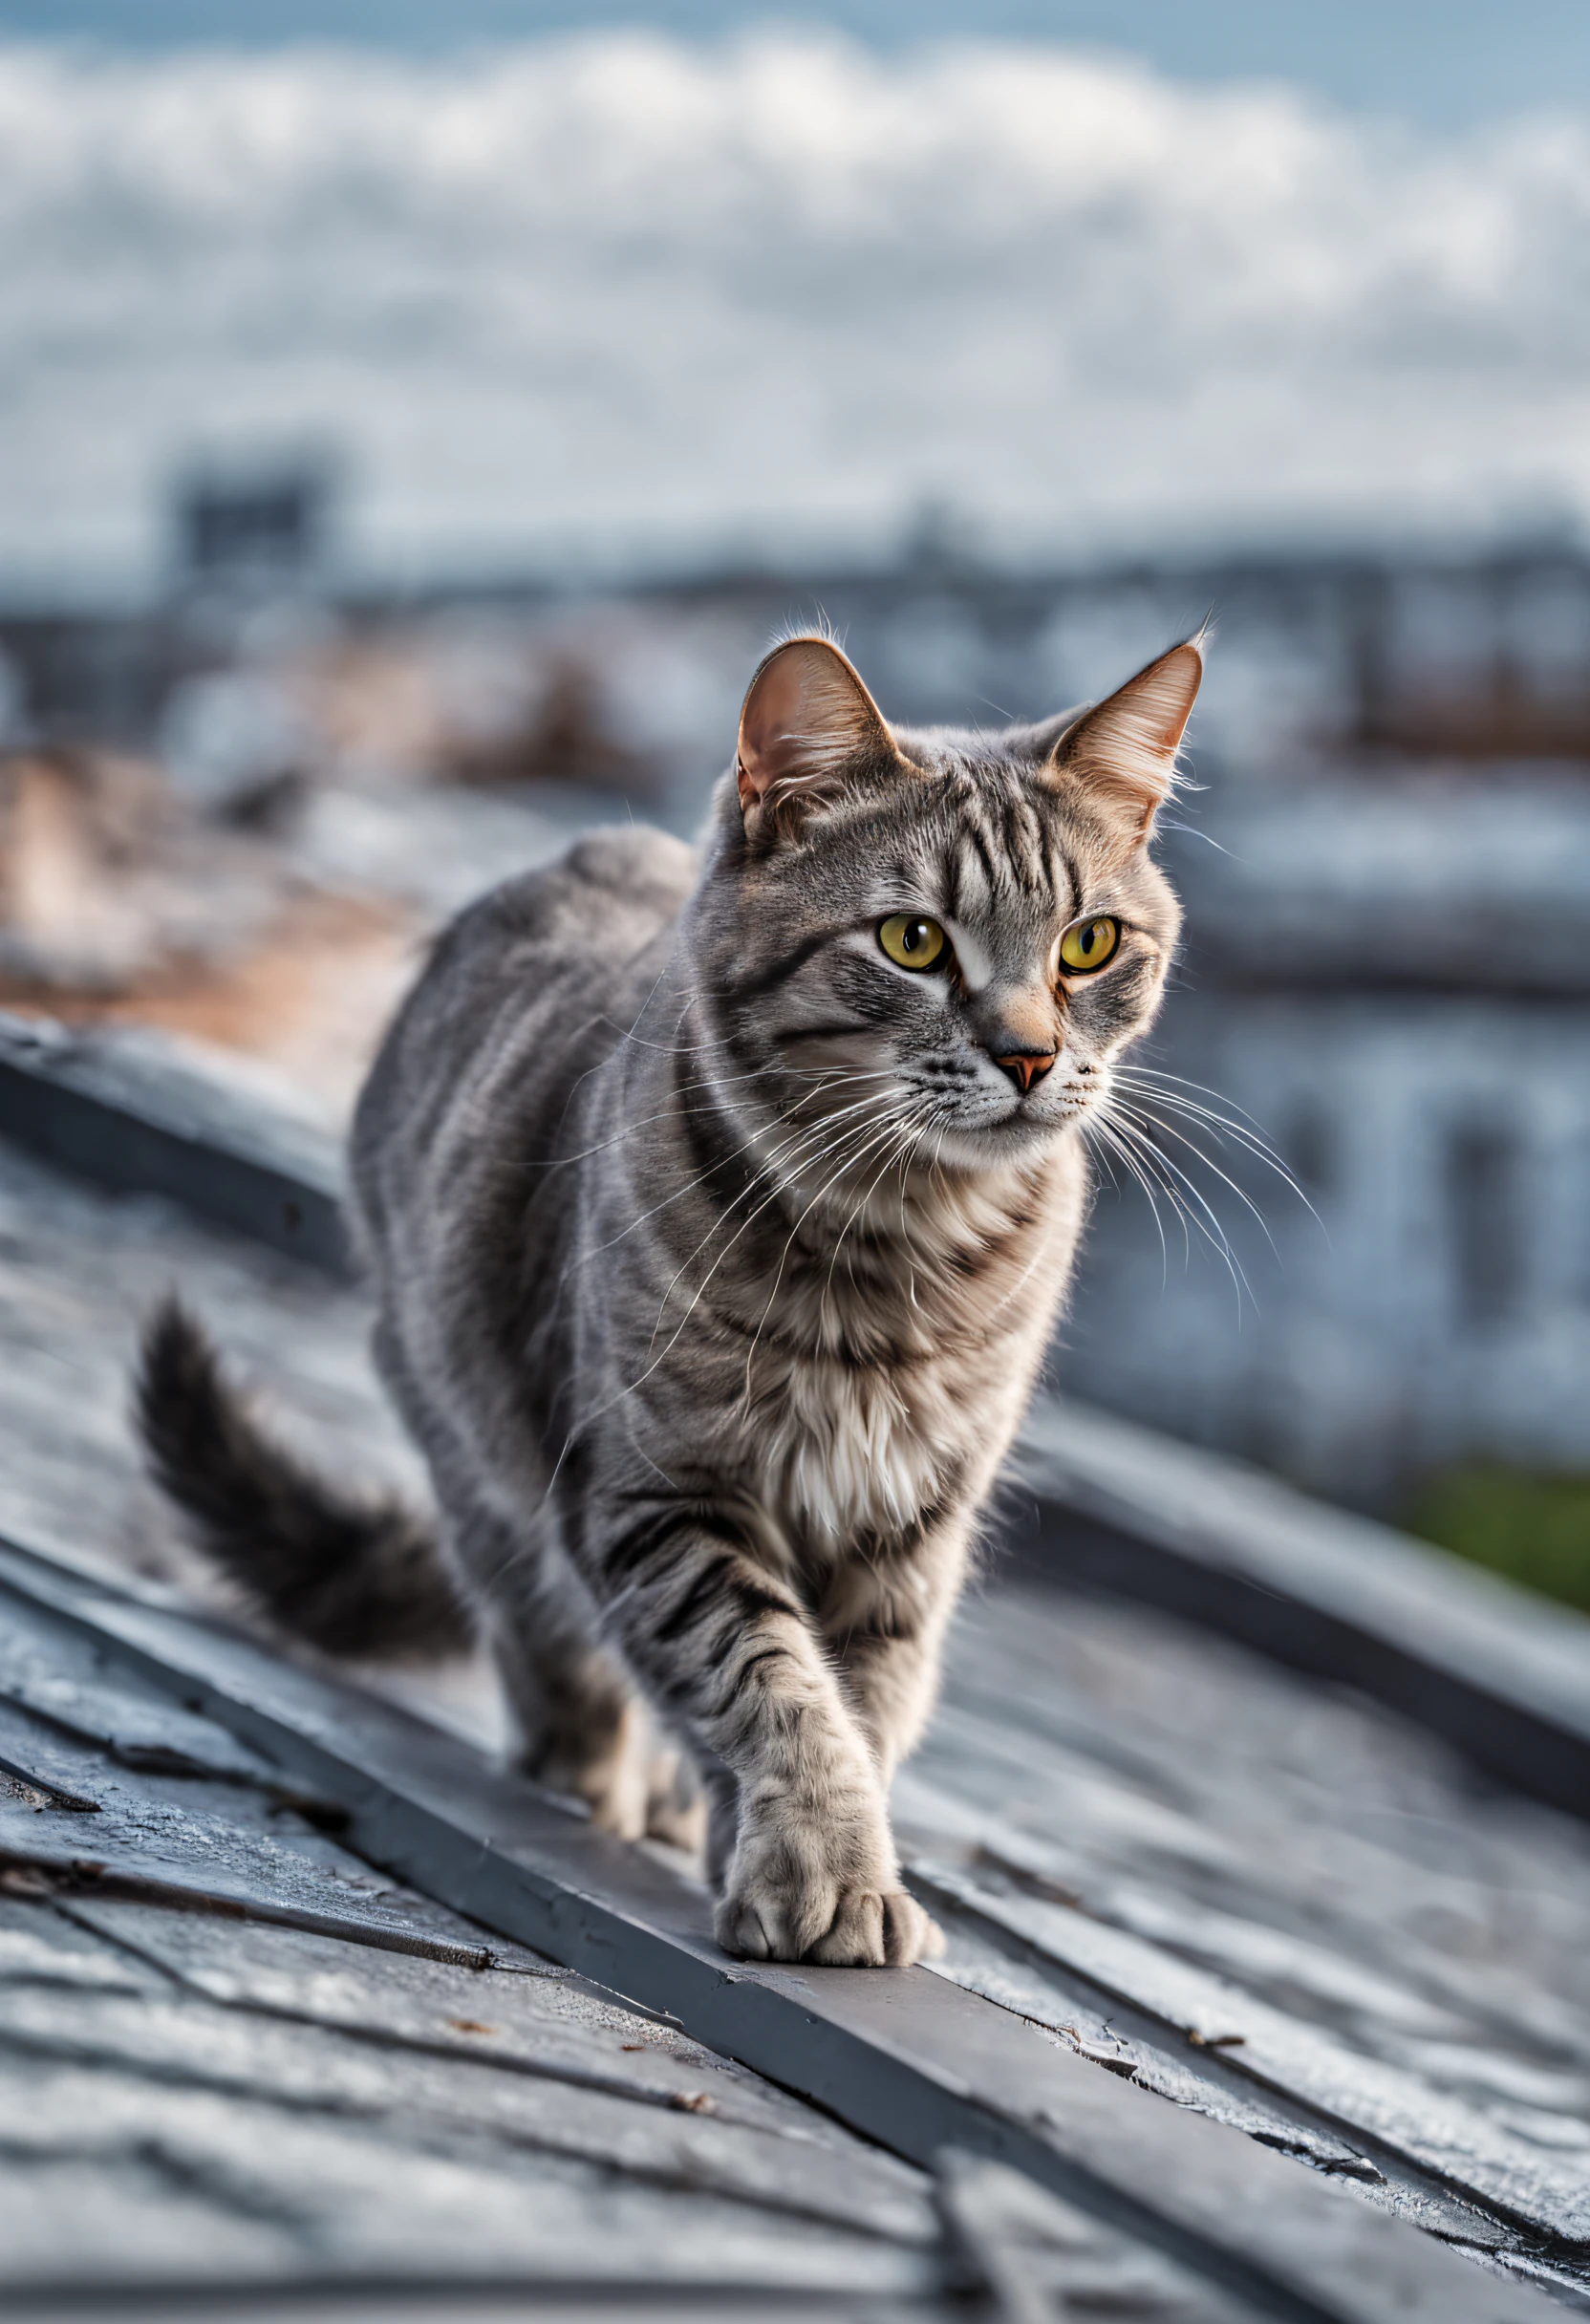
[{"label": "whole weathered grey roof under the cat, both sides of metal strip", "polygon": [[[300,1439],[414,1480],[356,1290],[0,1146],[14,1541],[184,1576],[123,1420],[170,1281]],[[40,2287],[572,2273],[918,2312],[979,2219],[986,2282],[1069,2250],[1146,2271],[1155,2315],[1167,2266],[1188,2315],[1499,2319],[1520,2280],[1590,2282],[1590,1829],[1383,1706],[995,1578],[897,1785],[948,1959],[732,1973],[665,1852],[225,1631],[0,1564],[0,2073],[49,2092],[7,2110],[0,2203]],[[488,1699],[432,1708],[490,1731]],[[1041,2192],[934,2178],[944,2145]]]}]

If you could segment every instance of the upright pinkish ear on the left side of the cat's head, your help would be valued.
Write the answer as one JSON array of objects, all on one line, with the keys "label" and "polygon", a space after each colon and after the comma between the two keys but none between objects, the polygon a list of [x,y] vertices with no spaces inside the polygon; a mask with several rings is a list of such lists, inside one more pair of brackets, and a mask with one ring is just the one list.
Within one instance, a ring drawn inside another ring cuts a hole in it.
[{"label": "upright pinkish ear on the left side of the cat's head", "polygon": [[790,637],[762,660],[739,711],[739,811],[751,837],[795,832],[848,779],[904,767],[888,720],[839,646]]}]

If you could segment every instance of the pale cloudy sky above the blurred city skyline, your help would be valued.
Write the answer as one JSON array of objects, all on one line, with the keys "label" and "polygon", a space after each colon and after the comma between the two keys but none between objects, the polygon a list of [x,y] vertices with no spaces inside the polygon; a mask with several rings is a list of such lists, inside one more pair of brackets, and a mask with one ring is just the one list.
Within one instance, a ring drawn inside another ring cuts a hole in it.
[{"label": "pale cloudy sky above the blurred city skyline", "polygon": [[1060,562],[1590,521],[1571,42],[1420,105],[1406,56],[1371,102],[1169,35],[225,49],[172,9],[63,46],[0,0],[5,595],[137,586],[174,472],[300,444],[384,574],[872,555],[925,507]]}]

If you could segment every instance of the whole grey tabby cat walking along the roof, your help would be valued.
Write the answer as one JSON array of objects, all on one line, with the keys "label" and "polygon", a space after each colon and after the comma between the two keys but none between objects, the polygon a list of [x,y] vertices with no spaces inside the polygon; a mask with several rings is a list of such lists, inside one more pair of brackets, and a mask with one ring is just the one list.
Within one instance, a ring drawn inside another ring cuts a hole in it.
[{"label": "whole grey tabby cat walking along the roof", "polygon": [[1188,641],[1081,716],[900,732],[790,639],[700,862],[604,832],[449,927],[353,1127],[439,1541],[300,1469],[179,1306],[149,1332],[216,1564],[332,1652],[479,1627],[523,1764],[609,1831],[688,1836],[695,1769],[735,1954],[937,1943],[888,1783],[1060,1311],[1079,1125],[1165,985],[1199,676]]}]

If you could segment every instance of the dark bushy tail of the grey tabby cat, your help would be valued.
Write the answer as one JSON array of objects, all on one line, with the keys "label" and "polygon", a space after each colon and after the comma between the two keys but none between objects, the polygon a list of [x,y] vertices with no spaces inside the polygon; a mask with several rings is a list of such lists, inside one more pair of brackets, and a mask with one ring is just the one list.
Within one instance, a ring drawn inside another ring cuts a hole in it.
[{"label": "dark bushy tail of the grey tabby cat", "polygon": [[439,1662],[474,1636],[428,1527],[360,1501],[279,1446],[179,1299],[149,1318],[135,1418],[156,1480],[207,1559],[270,1622],[325,1655]]}]

